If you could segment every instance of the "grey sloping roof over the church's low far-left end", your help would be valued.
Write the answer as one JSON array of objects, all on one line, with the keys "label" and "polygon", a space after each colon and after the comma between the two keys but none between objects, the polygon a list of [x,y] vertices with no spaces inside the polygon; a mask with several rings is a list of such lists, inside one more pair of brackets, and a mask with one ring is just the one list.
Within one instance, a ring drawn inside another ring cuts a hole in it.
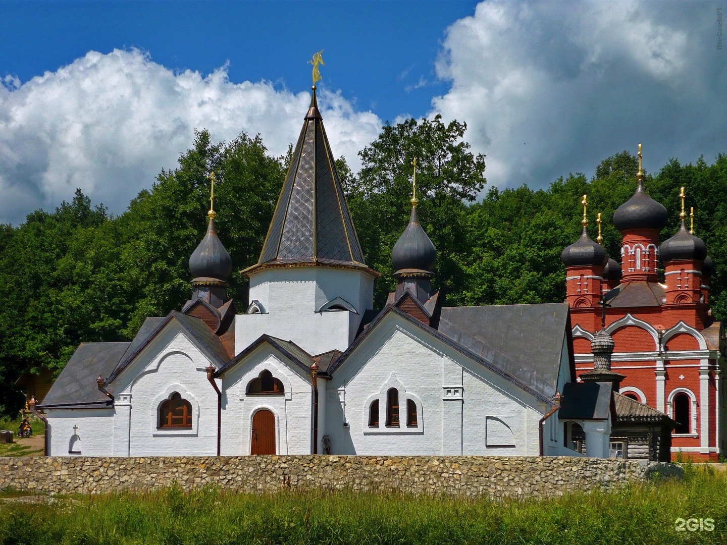
[{"label": "grey sloping roof over the church's low far-left end", "polygon": [[98,408],[113,405],[98,389],[97,377],[108,376],[130,342],[82,342],[39,408]]}]

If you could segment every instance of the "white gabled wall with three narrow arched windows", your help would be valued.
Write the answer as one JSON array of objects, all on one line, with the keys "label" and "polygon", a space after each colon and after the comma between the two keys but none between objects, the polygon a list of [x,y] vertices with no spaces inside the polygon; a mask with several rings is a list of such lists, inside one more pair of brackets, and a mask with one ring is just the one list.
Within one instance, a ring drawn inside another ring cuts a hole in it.
[{"label": "white gabled wall with three narrow arched windows", "polygon": [[[333,453],[537,454],[541,415],[520,401],[531,396],[444,343],[419,342],[421,331],[403,318],[389,315],[386,320],[389,327],[380,324],[364,341],[369,350],[360,347],[328,384],[326,432]],[[398,429],[385,427],[390,387],[399,389]],[[417,403],[417,428],[406,427],[407,397]],[[374,398],[379,399],[377,429],[367,421]],[[487,424],[497,438],[490,447]],[[510,438],[504,442],[508,427]]]}]

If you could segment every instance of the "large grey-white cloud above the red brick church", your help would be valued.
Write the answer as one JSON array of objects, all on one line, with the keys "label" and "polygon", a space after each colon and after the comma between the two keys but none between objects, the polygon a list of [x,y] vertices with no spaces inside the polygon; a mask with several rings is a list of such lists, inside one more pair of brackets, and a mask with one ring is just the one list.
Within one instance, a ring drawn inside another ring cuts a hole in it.
[{"label": "large grey-white cloud above the red brick church", "polygon": [[643,142],[668,158],[727,152],[727,53],[712,3],[486,1],[452,24],[433,112],[467,122],[499,187],[543,187]]}]

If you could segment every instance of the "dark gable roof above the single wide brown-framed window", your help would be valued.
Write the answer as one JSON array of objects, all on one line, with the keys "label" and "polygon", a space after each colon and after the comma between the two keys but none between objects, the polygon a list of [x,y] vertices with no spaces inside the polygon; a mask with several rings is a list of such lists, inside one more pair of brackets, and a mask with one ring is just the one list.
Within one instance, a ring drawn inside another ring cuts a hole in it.
[{"label": "dark gable roof above the single wide brown-framed window", "polygon": [[[124,371],[124,369],[128,367],[130,363],[132,363],[134,358],[136,358],[137,355],[139,355],[142,350],[144,350],[149,345],[149,343],[152,342],[153,339],[155,339],[156,336],[164,330],[167,324],[172,322],[172,320],[175,320],[177,323],[179,323],[182,330],[190,334],[190,336],[192,336],[193,339],[195,339],[195,341],[202,348],[206,349],[206,351],[209,352],[209,355],[212,356],[212,360],[217,363],[218,368],[224,366],[227,362],[227,351],[225,350],[225,347],[222,346],[222,341],[220,340],[220,337],[215,335],[202,320],[194,318],[193,316],[182,314],[182,312],[177,312],[176,310],[172,310],[172,312],[169,312],[169,314],[166,315],[166,318],[163,318],[159,322],[157,320],[150,322],[149,320],[150,319],[148,318],[144,322],[144,326],[148,326],[146,328],[146,331],[148,331],[155,324],[156,327],[153,328],[153,330],[143,338],[141,336],[142,330],[139,330],[139,334],[137,334],[136,338],[134,338],[134,341],[132,342],[132,344],[134,344],[134,350],[129,350],[126,354],[124,354],[124,358],[122,358],[116,368],[113,369],[111,375],[109,375],[108,379],[105,380],[105,384],[110,384],[111,382],[113,382],[113,380],[116,379],[116,377],[119,376],[119,374],[121,374],[121,372]],[[144,326],[142,326],[142,329],[144,328]]]}]

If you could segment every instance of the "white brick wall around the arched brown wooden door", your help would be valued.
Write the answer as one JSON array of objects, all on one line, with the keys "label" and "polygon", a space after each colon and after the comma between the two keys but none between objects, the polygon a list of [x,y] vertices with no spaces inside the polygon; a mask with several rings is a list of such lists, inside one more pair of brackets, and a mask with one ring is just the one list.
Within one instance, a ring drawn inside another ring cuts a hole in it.
[{"label": "white brick wall around the arched brown wooden door", "polygon": [[[250,381],[268,370],[284,386],[284,395],[246,395]],[[263,344],[222,376],[222,456],[250,453],[253,414],[268,409],[276,417],[276,452],[310,454],[310,379],[302,369]]]}]

